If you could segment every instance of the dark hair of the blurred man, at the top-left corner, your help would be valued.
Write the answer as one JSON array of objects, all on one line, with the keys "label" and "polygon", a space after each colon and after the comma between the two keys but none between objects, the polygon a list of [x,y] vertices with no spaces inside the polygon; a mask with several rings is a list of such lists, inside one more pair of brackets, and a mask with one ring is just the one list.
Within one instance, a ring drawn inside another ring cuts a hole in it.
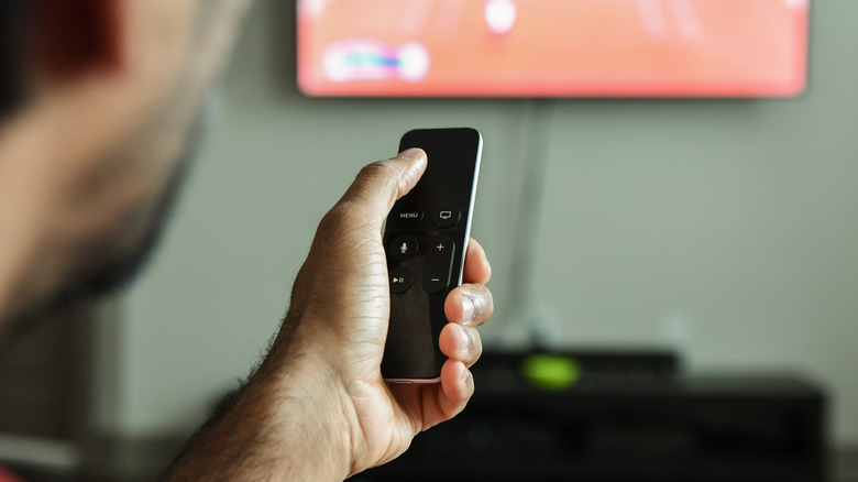
[{"label": "dark hair of the blurred man, at the top-left corner", "polygon": [[29,0],[0,1],[0,120],[23,97],[21,64],[24,59]]}]

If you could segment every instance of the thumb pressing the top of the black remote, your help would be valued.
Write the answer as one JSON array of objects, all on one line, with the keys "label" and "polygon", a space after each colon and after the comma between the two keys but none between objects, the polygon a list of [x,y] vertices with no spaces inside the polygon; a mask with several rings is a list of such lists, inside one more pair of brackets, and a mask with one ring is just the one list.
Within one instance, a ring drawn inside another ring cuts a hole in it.
[{"label": "thumb pressing the top of the black remote", "polygon": [[367,216],[364,219],[381,224],[394,202],[417,185],[426,164],[421,149],[409,149],[396,157],[372,163],[361,169],[340,204],[363,211]]}]

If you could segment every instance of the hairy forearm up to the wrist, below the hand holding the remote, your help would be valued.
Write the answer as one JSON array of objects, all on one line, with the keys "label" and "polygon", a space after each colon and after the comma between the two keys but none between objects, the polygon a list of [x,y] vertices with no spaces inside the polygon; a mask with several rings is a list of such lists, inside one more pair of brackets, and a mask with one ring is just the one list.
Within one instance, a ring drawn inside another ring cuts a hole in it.
[{"label": "hairy forearm up to the wrist, below the hand holding the remote", "polygon": [[343,480],[350,434],[337,384],[319,366],[275,350],[162,480]]}]

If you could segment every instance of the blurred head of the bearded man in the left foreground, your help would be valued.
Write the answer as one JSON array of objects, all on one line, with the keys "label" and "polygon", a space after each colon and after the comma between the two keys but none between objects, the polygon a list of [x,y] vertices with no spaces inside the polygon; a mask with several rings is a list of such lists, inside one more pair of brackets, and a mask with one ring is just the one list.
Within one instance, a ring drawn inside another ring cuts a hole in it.
[{"label": "blurred head of the bearded man in the left foreground", "polygon": [[0,337],[153,242],[249,0],[3,0]]}]

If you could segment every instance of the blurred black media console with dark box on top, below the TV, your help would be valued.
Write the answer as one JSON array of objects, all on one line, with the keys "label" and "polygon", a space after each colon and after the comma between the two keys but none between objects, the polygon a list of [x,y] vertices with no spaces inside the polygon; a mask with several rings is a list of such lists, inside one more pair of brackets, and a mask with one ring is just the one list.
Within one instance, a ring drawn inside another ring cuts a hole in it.
[{"label": "blurred black media console with dark box on top, below the TV", "polygon": [[486,353],[462,414],[354,480],[825,480],[825,396],[807,381],[686,376],[670,353],[569,352],[551,357],[578,376],[548,390],[522,369],[531,357]]}]

